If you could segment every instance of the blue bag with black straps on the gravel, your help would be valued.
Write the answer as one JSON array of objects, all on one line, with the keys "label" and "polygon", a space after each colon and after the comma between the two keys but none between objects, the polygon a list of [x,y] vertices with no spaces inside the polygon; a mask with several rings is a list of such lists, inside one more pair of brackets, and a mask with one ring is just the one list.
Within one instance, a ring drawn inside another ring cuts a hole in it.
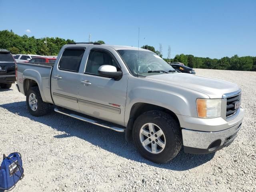
[{"label": "blue bag with black straps on the gravel", "polygon": [[4,155],[0,166],[0,189],[8,190],[14,186],[24,175],[21,155],[18,152]]}]

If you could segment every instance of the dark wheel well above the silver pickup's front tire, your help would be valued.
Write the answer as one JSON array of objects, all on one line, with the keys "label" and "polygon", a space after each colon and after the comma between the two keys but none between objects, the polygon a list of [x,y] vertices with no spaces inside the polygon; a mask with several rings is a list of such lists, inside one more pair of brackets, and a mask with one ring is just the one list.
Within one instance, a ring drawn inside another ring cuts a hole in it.
[{"label": "dark wheel well above the silver pickup's front tire", "polygon": [[138,118],[138,116],[140,116],[144,112],[151,111],[151,110],[159,110],[159,111],[166,112],[167,114],[172,116],[180,125],[178,117],[176,116],[176,114],[174,112],[172,112],[171,110],[166,109],[164,107],[160,107],[160,106],[153,105],[153,104],[148,104],[148,103],[136,103],[136,104],[134,104],[132,106],[132,109],[131,109],[131,112],[130,112],[129,120],[132,120],[132,124],[133,124],[133,122],[136,120],[136,118]]}]

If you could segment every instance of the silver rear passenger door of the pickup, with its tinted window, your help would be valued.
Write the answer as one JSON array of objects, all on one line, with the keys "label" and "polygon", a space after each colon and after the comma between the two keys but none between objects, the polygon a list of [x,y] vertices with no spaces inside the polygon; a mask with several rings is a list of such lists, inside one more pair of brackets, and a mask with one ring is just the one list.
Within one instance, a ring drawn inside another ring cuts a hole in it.
[{"label": "silver rear passenger door of the pickup, with its tinted window", "polygon": [[54,65],[51,90],[55,105],[80,112],[78,106],[80,74],[78,71],[84,52],[84,47],[65,48],[59,62]]}]

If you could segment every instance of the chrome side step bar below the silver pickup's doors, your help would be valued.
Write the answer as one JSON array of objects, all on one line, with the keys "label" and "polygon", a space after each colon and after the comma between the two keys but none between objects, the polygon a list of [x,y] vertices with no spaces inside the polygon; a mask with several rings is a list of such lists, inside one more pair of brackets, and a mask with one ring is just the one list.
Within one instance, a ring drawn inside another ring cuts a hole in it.
[{"label": "chrome side step bar below the silver pickup's doors", "polygon": [[65,112],[64,110],[60,110],[58,108],[54,108],[54,111],[58,112],[58,113],[61,113],[61,114],[64,114],[66,116],[70,116],[70,117],[73,117],[73,118],[76,118],[76,119],[94,124],[94,125],[98,125],[98,126],[101,126],[101,127],[104,127],[104,128],[112,129],[112,130],[117,131],[117,132],[125,132],[125,128],[114,126],[114,124],[112,125],[111,123],[107,124],[107,122],[103,123],[103,120],[102,120],[102,122],[99,122],[97,120],[86,118],[86,117],[80,116],[78,114],[71,113],[70,110],[68,110],[68,111],[70,111],[70,113]]}]

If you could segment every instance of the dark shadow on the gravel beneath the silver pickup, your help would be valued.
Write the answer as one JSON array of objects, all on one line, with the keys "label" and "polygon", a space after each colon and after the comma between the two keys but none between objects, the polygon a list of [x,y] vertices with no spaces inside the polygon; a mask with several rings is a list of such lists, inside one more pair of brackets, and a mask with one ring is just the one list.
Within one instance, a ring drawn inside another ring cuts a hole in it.
[{"label": "dark shadow on the gravel beneath the silver pickup", "polygon": [[178,156],[176,156],[176,158],[174,158],[172,161],[165,164],[155,164],[140,156],[140,154],[134,150],[135,147],[133,142],[125,141],[124,133],[115,132],[113,130],[58,114],[54,112],[53,107],[49,114],[41,117],[35,117],[28,112],[25,101],[2,104],[0,107],[14,114],[18,114],[50,126],[52,129],[65,132],[65,134],[54,136],[56,139],[75,136],[104,150],[115,153],[118,156],[141,163],[146,163],[150,166],[155,166],[158,168],[183,171],[200,166],[210,161],[214,157],[214,153],[204,155],[186,154],[182,148]]}]

